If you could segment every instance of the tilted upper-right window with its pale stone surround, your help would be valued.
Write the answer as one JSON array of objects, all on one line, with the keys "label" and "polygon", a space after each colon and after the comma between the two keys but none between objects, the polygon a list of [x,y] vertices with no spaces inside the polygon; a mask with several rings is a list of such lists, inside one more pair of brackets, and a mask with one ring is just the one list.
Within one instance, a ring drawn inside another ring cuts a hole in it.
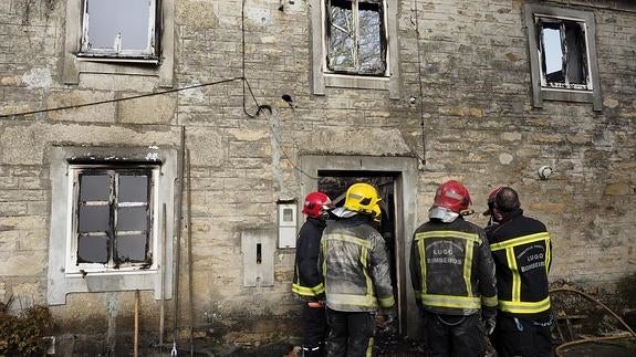
[{"label": "tilted upper-right window with its pale stone surround", "polygon": [[534,106],[544,99],[602,106],[594,14],[590,11],[526,4]]}]

